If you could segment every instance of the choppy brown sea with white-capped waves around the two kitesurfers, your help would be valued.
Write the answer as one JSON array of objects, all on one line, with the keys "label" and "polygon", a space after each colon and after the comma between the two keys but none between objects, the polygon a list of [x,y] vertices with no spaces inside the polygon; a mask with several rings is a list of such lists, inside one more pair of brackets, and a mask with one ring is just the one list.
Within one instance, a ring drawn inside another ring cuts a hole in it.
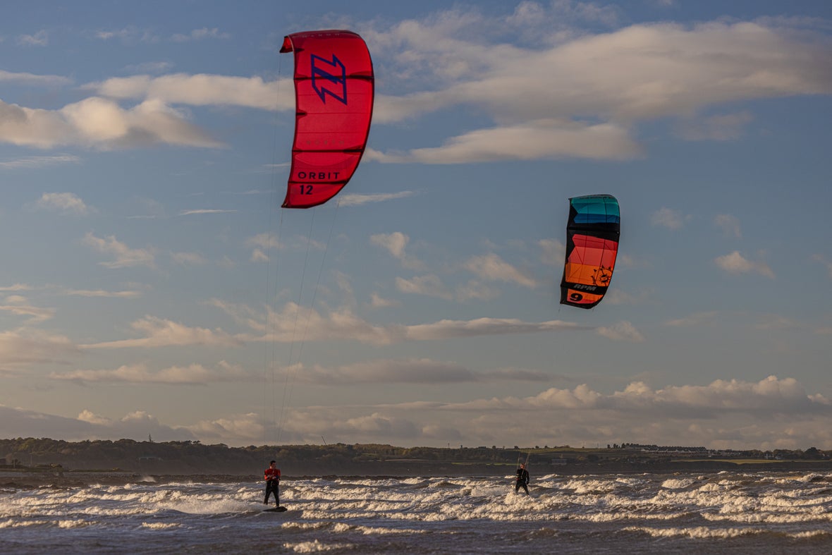
[{"label": "choppy brown sea with white-capped waves around the two kitesurfers", "polygon": [[0,553],[832,553],[827,473],[55,479],[0,486]]}]

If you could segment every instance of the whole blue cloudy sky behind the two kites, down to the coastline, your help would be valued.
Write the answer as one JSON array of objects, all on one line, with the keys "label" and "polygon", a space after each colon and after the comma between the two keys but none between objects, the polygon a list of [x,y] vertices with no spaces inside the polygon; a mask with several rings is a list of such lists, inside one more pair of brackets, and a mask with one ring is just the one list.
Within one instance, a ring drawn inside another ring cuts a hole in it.
[{"label": "whole blue cloudy sky behind the two kites, down to the coastline", "polygon": [[[286,210],[316,29],[373,124]],[[832,449],[830,119],[825,0],[9,3],[0,437]]]}]

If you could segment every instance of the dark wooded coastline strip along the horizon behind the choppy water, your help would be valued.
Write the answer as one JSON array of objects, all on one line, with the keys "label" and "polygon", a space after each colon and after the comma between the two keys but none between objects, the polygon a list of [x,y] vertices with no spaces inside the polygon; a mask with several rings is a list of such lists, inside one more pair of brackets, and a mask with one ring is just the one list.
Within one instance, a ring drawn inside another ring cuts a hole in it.
[{"label": "dark wooded coastline strip along the horizon behind the choppy water", "polygon": [[829,472],[832,453],[714,452],[636,444],[607,448],[399,448],[381,444],[262,445],[230,448],[200,442],[0,439],[0,486],[70,487],[137,481],[260,481],[275,458],[285,479],[309,477],[511,477],[519,462],[546,474]]}]

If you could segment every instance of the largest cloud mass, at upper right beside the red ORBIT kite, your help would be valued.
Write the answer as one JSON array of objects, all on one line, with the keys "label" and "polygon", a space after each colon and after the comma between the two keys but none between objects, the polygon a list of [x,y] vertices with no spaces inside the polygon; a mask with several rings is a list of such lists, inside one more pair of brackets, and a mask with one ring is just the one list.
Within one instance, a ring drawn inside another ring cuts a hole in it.
[{"label": "largest cloud mass, at upper right beside the red ORBIT kite", "polygon": [[[371,151],[370,159],[436,164],[627,159],[641,156],[632,136],[637,121],[676,116],[687,138],[730,140],[753,119],[750,112],[706,117],[697,112],[727,102],[832,90],[821,62],[829,55],[827,43],[785,20],[644,23],[590,34],[558,26],[575,5],[532,9],[524,3],[499,26],[475,12],[465,17],[443,12],[375,30],[369,35],[374,44],[407,52],[394,57],[393,76],[422,83],[426,90],[379,97],[374,121],[403,121],[466,105],[497,125],[449,137],[442,146]],[[534,25],[528,23],[532,12]],[[518,27],[523,36],[536,37],[534,47],[499,42],[498,32],[474,32],[499,27],[512,34],[520,22],[525,22]]]}]

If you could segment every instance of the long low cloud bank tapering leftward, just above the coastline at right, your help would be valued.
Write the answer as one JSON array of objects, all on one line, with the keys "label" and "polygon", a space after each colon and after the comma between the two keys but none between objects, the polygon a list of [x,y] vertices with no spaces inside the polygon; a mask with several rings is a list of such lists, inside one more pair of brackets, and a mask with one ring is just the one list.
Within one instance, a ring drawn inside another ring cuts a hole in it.
[{"label": "long low cloud bank tapering leftward, just above the coastline at right", "polygon": [[[685,437],[688,444],[711,448],[806,448],[832,439],[830,401],[807,393],[795,379],[776,376],[661,389],[635,381],[608,394],[579,384],[523,398],[308,406],[293,411],[296,418],[280,431],[298,443],[315,441],[323,434],[399,445],[443,445],[449,439],[511,445],[518,437],[552,445],[622,441],[677,445]],[[255,420],[253,415],[249,419],[252,424]],[[220,433],[225,426],[206,424],[206,428]],[[225,443],[243,441],[224,434],[220,437]]]}]

